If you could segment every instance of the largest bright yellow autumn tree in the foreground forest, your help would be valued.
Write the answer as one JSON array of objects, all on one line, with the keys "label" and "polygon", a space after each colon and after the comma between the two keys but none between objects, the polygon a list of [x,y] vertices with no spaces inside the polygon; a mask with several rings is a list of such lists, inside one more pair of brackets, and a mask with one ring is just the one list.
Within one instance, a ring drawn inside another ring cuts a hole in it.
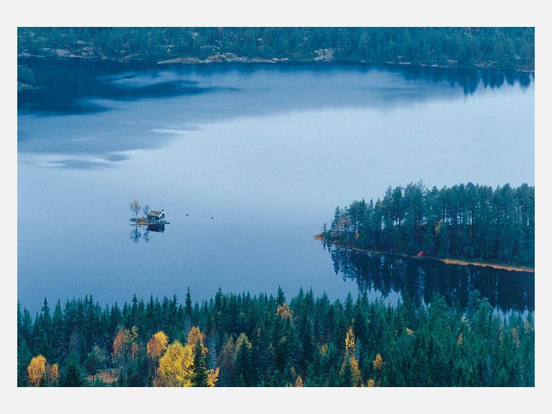
[{"label": "largest bright yellow autumn tree in the foreground forest", "polygon": [[155,386],[191,386],[193,363],[192,347],[179,341],[172,342],[159,359]]}]

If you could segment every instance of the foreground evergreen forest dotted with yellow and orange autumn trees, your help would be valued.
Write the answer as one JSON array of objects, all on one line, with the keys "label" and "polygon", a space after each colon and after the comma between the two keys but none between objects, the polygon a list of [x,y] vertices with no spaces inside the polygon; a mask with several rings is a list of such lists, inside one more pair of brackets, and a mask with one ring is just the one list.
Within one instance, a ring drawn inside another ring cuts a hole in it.
[{"label": "foreground evergreen forest dotted with yellow and orange autumn trees", "polygon": [[224,294],[101,307],[92,297],[17,306],[19,386],[534,386],[535,325],[474,290],[388,306]]}]

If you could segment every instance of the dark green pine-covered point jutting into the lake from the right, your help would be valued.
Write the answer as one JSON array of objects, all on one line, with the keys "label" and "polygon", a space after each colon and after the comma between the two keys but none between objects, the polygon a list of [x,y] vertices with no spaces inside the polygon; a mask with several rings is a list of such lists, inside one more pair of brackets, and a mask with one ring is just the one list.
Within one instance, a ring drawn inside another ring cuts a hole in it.
[{"label": "dark green pine-covered point jutting into the lake from the right", "polygon": [[382,199],[337,206],[321,235],[328,242],[385,253],[533,267],[535,188],[389,186]]}]

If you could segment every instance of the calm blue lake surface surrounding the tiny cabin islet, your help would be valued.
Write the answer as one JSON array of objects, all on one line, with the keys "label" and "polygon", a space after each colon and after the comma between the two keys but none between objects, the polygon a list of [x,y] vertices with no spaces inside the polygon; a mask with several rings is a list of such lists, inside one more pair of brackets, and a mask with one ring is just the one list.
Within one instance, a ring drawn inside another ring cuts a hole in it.
[{"label": "calm blue lake surface surrounding the tiny cabin islet", "polygon": [[[188,286],[194,300],[278,286],[396,300],[428,284],[459,306],[477,288],[500,311],[534,309],[530,273],[403,261],[382,276],[313,239],[335,206],[388,186],[534,185],[532,73],[21,63],[39,87],[18,93],[17,119],[18,299],[31,311]],[[164,232],[130,225],[133,199],[166,211]]]}]

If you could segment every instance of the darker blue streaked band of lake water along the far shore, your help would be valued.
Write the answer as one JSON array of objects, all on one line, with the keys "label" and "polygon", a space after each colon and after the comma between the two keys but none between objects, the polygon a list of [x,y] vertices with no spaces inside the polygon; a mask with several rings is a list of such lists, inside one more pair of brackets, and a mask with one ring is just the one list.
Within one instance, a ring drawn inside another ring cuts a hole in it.
[{"label": "darker blue streaked band of lake water along the far shore", "polygon": [[[152,65],[19,59],[35,84],[18,92],[18,152],[41,166],[100,169],[161,148],[206,123],[275,112],[377,108],[472,95],[533,73],[344,63]],[[216,97],[214,99],[214,97]],[[178,98],[178,99],[177,99]]]}]

